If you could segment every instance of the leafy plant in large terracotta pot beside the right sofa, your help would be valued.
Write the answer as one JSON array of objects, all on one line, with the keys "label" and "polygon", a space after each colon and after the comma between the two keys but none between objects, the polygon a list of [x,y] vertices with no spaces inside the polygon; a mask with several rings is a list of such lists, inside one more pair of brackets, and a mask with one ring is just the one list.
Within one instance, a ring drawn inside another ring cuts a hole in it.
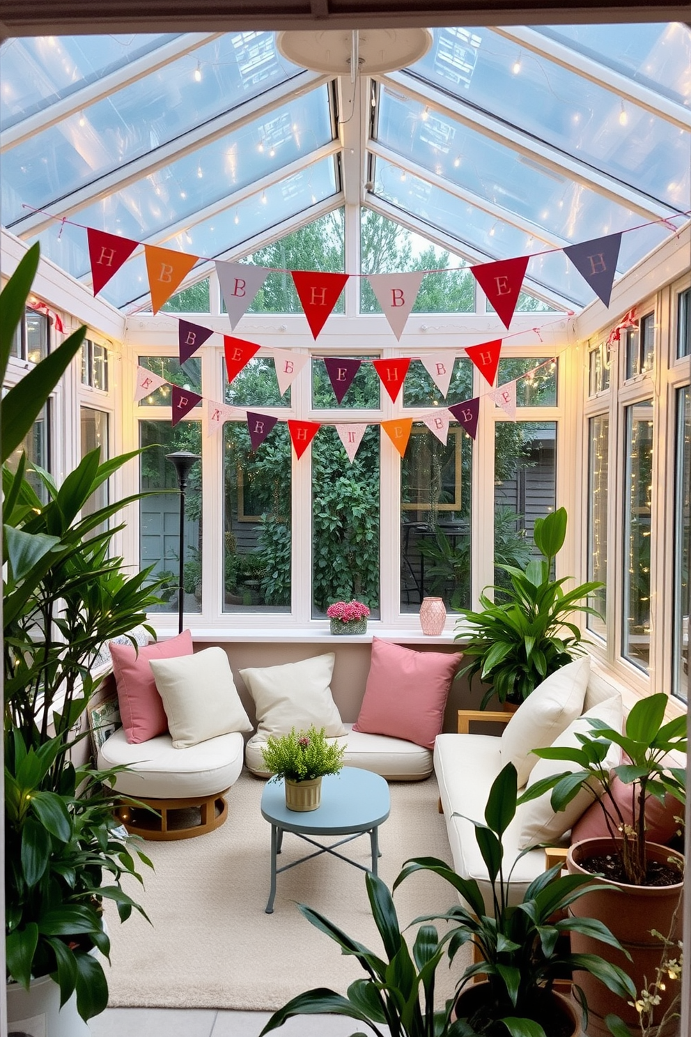
[{"label": "leafy plant in large terracotta pot beside the right sofa", "polygon": [[[685,802],[686,770],[670,765],[668,754],[687,752],[686,717],[665,723],[666,706],[666,695],[651,695],[633,706],[624,732],[603,721],[591,720],[591,730],[578,735],[580,748],[535,750],[538,756],[564,760],[574,768],[536,781],[521,797],[525,802],[551,789],[555,810],[565,807],[583,787],[598,798],[608,835],[574,843],[567,865],[572,873],[581,876],[604,873],[605,881],[597,890],[586,891],[572,910],[587,910],[603,919],[629,948],[629,970],[637,990],[646,988],[659,963],[657,933],[664,933],[672,943],[681,937],[678,904],[684,885],[684,858],[667,846],[652,843],[645,824],[645,806],[651,796],[662,801],[671,795],[680,804]],[[622,748],[625,762],[609,770],[604,760],[612,742]],[[629,789],[626,809],[617,794],[617,783]],[[621,907],[622,893],[630,908],[625,912]],[[574,943],[582,949],[586,938],[574,936]],[[587,978],[583,983],[589,985]],[[660,1014],[664,1014],[673,988],[669,985],[659,996]],[[634,1027],[639,1021],[636,1000],[622,1011],[625,1022]],[[602,990],[592,991],[588,1001],[603,1020],[601,1032],[608,1033],[604,1019],[616,1009],[607,1003]]]}]

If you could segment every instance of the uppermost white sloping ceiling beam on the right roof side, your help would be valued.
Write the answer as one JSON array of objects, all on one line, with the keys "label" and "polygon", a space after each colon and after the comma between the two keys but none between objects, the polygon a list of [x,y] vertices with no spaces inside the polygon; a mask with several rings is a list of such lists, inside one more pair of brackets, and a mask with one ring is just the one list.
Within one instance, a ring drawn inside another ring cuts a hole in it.
[{"label": "uppermost white sloping ceiling beam on the right roof side", "polygon": [[595,83],[596,86],[611,90],[612,93],[615,93],[624,101],[630,101],[639,108],[644,108],[645,111],[658,116],[658,118],[665,119],[667,122],[671,122],[672,125],[678,127],[680,130],[691,130],[691,112],[688,109],[670,101],[669,97],[656,93],[650,87],[637,83],[635,79],[630,79],[628,76],[623,76],[622,73],[614,72],[613,68],[609,68],[604,62],[588,58],[586,55],[580,54],[578,51],[572,50],[564,44],[544,36],[535,29],[524,29],[522,27],[500,29],[493,27],[492,31],[496,32],[499,36],[503,36],[505,39],[515,43],[522,50],[531,51],[532,54],[547,58],[548,61],[553,61],[568,72],[575,73],[582,79]]}]

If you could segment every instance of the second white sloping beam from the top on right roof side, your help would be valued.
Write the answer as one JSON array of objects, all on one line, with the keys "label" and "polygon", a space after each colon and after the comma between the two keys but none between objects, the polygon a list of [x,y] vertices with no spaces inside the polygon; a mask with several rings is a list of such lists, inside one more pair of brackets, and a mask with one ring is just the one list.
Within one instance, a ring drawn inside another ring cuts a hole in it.
[{"label": "second white sloping beam from the top on right roof side", "polygon": [[566,176],[582,184],[583,187],[592,191],[597,191],[598,194],[617,205],[626,205],[646,220],[665,220],[670,216],[679,215],[678,209],[650,198],[643,192],[636,191],[635,188],[621,183],[615,177],[594,169],[587,163],[580,162],[573,156],[535,140],[529,134],[515,130],[500,119],[464,105],[461,100],[452,97],[430,83],[422,83],[409,74],[400,72],[388,73],[386,76],[377,77],[377,79],[395,92],[403,93],[435,112],[461,122],[470,130],[489,137],[497,144],[517,151],[530,162],[544,166],[560,177]]}]

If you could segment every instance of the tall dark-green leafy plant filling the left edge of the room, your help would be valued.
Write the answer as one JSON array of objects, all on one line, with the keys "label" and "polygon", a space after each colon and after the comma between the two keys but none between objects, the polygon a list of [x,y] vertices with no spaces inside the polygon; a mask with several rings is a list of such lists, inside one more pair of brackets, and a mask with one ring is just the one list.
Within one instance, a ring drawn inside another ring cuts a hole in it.
[{"label": "tall dark-green leafy plant filling the left edge of the room", "polygon": [[[35,247],[0,296],[3,376],[37,261]],[[103,901],[114,900],[126,918],[137,905],[121,889],[121,877],[139,878],[137,856],[149,862],[114,819],[114,798],[103,784],[112,773],[102,774],[88,763],[75,765],[71,754],[85,737],[79,729],[96,691],[89,671],[92,660],[111,638],[142,623],[146,609],[159,598],[146,586],[147,572],[125,576],[122,560],[109,556],[120,527],[108,529],[108,521],[127,501],[85,513],[94,491],[133,455],[99,464],[98,451],[93,451],[59,488],[36,469],[47,503],[27,480],[24,454],[13,471],[6,464],[79,349],[84,331],[70,336],[5,396],[2,476],[10,1013],[25,991],[48,984],[56,1010],[76,1001],[86,1020],[108,1001],[103,968],[89,953],[93,948],[109,952]],[[26,1006],[17,1011],[20,1018],[36,1014]],[[82,1024],[78,1017],[61,1026],[71,1037]]]}]

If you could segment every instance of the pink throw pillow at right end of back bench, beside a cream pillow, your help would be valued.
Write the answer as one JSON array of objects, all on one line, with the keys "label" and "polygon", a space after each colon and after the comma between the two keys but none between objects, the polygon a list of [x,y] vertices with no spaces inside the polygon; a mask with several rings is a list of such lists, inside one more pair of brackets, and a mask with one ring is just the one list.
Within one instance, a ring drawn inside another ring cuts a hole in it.
[{"label": "pink throw pillow at right end of back bench, beside a cream pillow", "polygon": [[372,639],[372,663],[353,731],[387,734],[426,749],[443,725],[461,652],[412,651]]}]

